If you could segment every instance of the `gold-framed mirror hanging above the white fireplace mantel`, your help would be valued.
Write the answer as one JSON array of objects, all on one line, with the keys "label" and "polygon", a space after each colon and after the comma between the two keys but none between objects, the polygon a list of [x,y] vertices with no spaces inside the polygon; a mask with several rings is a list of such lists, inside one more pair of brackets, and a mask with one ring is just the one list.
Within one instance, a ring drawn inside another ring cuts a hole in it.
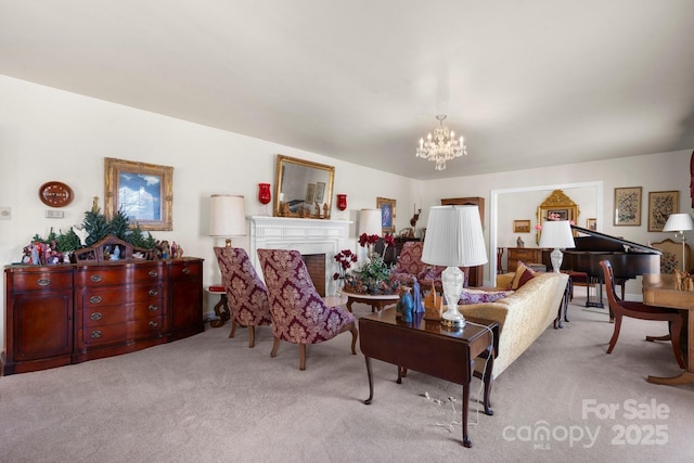
[{"label": "gold-framed mirror hanging above the white fireplace mantel", "polygon": [[335,167],[278,154],[273,216],[330,219]]}]

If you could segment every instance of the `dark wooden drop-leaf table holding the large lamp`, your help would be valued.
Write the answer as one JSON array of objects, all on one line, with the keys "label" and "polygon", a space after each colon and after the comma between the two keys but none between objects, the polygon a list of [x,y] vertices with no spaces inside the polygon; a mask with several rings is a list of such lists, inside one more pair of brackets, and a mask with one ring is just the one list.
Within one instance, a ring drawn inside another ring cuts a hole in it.
[{"label": "dark wooden drop-leaf table holding the large lamp", "polygon": [[493,359],[499,348],[499,324],[474,318],[468,318],[467,322],[462,330],[451,330],[438,321],[421,318],[415,318],[413,323],[403,323],[396,318],[395,308],[359,319],[359,346],[369,375],[369,398],[364,403],[370,404],[373,400],[372,358],[398,365],[398,384],[407,369],[460,384],[463,386],[463,445],[472,447],[467,434],[470,382],[473,374],[480,376],[475,372],[475,358],[488,359],[481,378],[485,413],[492,415],[489,396]]}]

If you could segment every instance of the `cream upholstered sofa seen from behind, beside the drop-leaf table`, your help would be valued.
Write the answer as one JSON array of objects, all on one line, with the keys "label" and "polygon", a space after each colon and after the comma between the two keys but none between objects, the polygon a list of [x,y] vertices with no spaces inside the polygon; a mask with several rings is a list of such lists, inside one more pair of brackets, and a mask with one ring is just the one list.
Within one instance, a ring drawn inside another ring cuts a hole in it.
[{"label": "cream upholstered sofa seen from behind, beside the drop-leaf table", "polygon": [[[497,276],[497,287],[511,286],[514,273]],[[493,377],[498,377],[520,353],[553,324],[568,275],[564,273],[537,273],[513,294],[496,303],[459,306],[465,317],[494,320],[501,325],[499,355],[494,359]],[[481,363],[479,360],[477,363]],[[476,365],[480,370],[484,365]]]}]

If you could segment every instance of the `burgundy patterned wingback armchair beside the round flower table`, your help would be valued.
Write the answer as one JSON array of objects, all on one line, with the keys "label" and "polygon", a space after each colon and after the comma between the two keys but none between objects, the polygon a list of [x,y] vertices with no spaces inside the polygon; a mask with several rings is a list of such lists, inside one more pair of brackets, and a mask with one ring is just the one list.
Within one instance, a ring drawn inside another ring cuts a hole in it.
[{"label": "burgundy patterned wingback armchair beside the round flower table", "polygon": [[299,345],[299,370],[306,369],[306,345],[351,332],[351,353],[356,355],[355,316],[339,307],[329,307],[318,294],[298,250],[258,249],[268,287],[275,357],[280,340]]}]

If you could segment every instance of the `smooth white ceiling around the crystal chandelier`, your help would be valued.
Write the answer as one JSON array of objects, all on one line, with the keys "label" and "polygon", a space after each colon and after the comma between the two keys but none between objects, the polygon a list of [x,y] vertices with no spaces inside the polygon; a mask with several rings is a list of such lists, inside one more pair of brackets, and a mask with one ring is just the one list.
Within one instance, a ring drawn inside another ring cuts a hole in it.
[{"label": "smooth white ceiling around the crystal chandelier", "polygon": [[0,0],[0,74],[416,179],[694,147],[692,0]]}]

